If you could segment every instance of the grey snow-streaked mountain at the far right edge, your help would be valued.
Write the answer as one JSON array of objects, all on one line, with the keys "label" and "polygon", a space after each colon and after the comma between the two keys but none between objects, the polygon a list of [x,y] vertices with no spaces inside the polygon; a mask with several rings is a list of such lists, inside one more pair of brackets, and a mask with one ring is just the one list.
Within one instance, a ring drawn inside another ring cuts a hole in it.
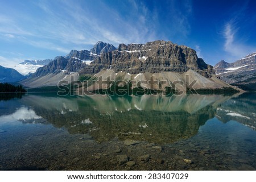
[{"label": "grey snow-streaked mountain at the far right edge", "polygon": [[256,52],[235,61],[220,61],[214,66],[214,72],[221,80],[240,86],[242,89],[256,89]]}]

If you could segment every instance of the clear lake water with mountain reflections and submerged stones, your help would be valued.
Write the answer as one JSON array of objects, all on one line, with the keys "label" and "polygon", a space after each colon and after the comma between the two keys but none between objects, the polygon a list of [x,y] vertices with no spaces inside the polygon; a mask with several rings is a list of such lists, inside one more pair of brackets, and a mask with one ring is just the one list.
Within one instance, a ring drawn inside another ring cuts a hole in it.
[{"label": "clear lake water with mountain reflections and submerged stones", "polygon": [[254,170],[255,127],[255,93],[5,97],[0,169]]}]

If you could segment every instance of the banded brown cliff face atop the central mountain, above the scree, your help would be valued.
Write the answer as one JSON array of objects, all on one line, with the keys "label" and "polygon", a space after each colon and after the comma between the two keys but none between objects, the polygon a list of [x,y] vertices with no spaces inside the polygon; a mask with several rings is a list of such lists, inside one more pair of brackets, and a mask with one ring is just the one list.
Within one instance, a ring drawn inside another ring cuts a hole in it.
[{"label": "banded brown cliff face atop the central mountain, above the scree", "polygon": [[82,69],[82,74],[95,74],[101,69],[112,68],[115,72],[131,74],[177,72],[189,69],[210,77],[212,66],[199,59],[196,51],[187,46],[178,46],[172,42],[156,40],[146,44],[120,44],[117,50],[104,52],[100,57]]}]

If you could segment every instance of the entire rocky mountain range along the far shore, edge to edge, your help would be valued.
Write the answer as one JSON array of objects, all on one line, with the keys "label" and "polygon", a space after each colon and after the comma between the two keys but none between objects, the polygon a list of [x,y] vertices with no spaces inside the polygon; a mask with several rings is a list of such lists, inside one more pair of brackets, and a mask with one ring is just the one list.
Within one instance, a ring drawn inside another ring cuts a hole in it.
[{"label": "entire rocky mountain range along the far shore, edge to edge", "polygon": [[[195,89],[256,89],[256,53],[234,63],[222,60],[212,67],[197,57],[194,49],[163,40],[119,44],[118,48],[97,42],[90,51],[72,50],[68,55],[55,59],[24,60],[15,67],[22,75],[14,69],[8,72],[6,69],[1,67],[0,82],[22,80],[20,83],[28,88],[56,86],[60,81],[71,81],[71,78],[77,81],[83,76],[92,80],[110,79],[112,82],[150,80],[154,76],[158,82],[166,80],[167,83],[162,85],[166,88],[177,80],[187,82],[185,76],[188,75],[197,80],[193,85]],[[108,88],[90,86],[91,90]],[[177,87],[182,89],[182,86]],[[144,85],[144,88],[151,89],[149,85]],[[159,90],[163,88],[156,86]]]}]

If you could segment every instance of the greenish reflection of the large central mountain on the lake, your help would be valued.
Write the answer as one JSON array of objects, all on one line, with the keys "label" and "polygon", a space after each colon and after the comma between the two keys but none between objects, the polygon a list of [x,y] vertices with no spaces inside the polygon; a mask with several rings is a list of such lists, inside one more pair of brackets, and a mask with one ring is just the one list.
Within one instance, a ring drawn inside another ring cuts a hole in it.
[{"label": "greenish reflection of the large central mountain on the lake", "polygon": [[[195,135],[201,125],[214,117],[216,107],[229,98],[27,96],[23,101],[46,119],[45,123],[65,127],[71,134],[89,133],[98,142],[118,137],[163,144]],[[52,105],[47,104],[50,100]]]}]

